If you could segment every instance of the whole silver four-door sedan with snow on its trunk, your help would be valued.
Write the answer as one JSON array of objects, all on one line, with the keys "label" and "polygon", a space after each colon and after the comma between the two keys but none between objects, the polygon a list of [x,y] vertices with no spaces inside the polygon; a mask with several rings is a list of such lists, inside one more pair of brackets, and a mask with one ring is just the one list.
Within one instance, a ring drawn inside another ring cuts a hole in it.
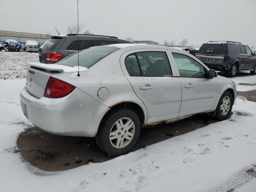
[{"label": "whole silver four-door sedan with snow on its trunk", "polygon": [[117,156],[140,129],[209,113],[230,115],[236,85],[200,60],[165,46],[113,44],[88,48],[56,64],[30,63],[20,92],[24,115],[53,134],[96,137]]}]

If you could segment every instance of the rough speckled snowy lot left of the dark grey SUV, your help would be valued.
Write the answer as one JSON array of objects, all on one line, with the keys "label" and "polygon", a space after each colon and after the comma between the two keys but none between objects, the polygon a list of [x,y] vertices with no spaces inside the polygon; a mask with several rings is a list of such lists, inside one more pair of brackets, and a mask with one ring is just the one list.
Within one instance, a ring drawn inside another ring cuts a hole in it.
[{"label": "rough speckled snowy lot left of the dark grey SUV", "polygon": [[0,51],[0,80],[24,79],[28,62],[39,62],[38,53]]}]

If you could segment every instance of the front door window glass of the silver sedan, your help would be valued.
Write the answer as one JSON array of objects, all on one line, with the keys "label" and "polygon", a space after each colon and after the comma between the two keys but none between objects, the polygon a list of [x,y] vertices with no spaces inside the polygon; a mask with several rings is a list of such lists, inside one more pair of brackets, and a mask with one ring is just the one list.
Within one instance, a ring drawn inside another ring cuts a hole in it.
[{"label": "front door window glass of the silver sedan", "polygon": [[180,77],[205,78],[204,66],[189,56],[180,53],[172,53],[178,67]]}]

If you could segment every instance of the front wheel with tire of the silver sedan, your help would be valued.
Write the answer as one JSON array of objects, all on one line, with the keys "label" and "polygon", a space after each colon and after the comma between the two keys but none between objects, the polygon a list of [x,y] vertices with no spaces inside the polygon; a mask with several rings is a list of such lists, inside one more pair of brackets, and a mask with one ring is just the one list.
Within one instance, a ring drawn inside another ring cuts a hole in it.
[{"label": "front wheel with tire of the silver sedan", "polygon": [[[227,100],[228,98],[229,100]],[[215,112],[215,118],[221,121],[226,120],[231,113],[233,102],[234,98],[232,94],[229,91],[224,92],[218,102],[218,106]]]}]

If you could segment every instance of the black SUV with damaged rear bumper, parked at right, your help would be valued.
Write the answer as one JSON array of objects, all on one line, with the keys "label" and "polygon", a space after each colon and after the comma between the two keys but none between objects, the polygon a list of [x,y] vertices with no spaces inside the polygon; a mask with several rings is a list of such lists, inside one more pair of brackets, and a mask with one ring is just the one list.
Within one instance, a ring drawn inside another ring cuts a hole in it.
[{"label": "black SUV with damaged rear bumper, parked at right", "polygon": [[239,42],[209,41],[200,47],[196,57],[208,68],[230,77],[243,71],[256,74],[256,52]]}]

